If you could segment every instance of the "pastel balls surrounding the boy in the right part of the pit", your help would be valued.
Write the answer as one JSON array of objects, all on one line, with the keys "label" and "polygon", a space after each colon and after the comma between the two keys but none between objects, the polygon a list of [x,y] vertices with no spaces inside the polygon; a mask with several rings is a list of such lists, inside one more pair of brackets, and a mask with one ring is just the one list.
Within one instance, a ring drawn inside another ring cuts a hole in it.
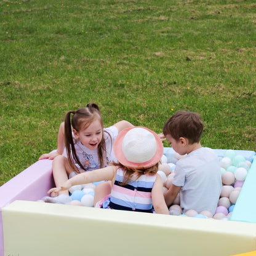
[{"label": "pastel balls surrounding the boy in the right part of the pit", "polygon": [[[163,192],[165,193],[172,185],[174,178],[175,164],[180,158],[171,148],[162,156],[162,164],[159,166],[158,174],[164,183]],[[222,171],[222,191],[218,200],[218,206],[214,215],[209,211],[196,212],[191,209],[182,214],[180,207],[180,193],[175,198],[172,206],[169,208],[170,215],[182,215],[197,218],[214,218],[217,220],[229,220],[234,209],[234,204],[238,199],[247,172],[249,171],[251,162],[247,161],[243,156],[237,155],[234,150],[226,150],[223,158],[220,158],[220,167]]]}]

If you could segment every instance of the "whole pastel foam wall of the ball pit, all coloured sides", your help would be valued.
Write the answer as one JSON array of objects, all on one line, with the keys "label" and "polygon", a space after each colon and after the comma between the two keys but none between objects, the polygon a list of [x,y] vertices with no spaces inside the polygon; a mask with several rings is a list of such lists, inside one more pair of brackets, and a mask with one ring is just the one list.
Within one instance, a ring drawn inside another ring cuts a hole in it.
[{"label": "whole pastel foam wall of the ball pit, all coloured sides", "polygon": [[[222,157],[225,150],[215,152]],[[236,152],[249,161],[255,156],[254,151]],[[256,220],[244,210],[249,203],[250,209],[256,207],[253,180],[247,181],[255,175],[254,161],[234,207],[231,218],[236,221],[220,221],[32,202],[54,186],[52,161],[41,160],[0,187],[0,256],[71,255],[74,251],[105,255],[113,249],[112,238],[118,246],[113,255],[119,255],[119,250],[123,254],[123,242],[131,238],[135,246],[129,247],[127,255],[152,255],[159,250],[177,256],[206,252],[224,256],[256,250]]]}]

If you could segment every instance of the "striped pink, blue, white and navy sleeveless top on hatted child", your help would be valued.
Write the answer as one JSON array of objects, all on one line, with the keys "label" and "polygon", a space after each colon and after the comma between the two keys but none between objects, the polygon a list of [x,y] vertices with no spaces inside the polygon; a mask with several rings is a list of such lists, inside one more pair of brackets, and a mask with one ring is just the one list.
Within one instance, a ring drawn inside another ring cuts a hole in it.
[{"label": "striped pink, blue, white and navy sleeveless top on hatted child", "polygon": [[152,212],[153,203],[151,190],[156,175],[142,175],[138,180],[130,180],[129,184],[121,186],[124,171],[119,168],[116,174],[110,196],[110,208],[116,210],[134,210],[135,212]]}]

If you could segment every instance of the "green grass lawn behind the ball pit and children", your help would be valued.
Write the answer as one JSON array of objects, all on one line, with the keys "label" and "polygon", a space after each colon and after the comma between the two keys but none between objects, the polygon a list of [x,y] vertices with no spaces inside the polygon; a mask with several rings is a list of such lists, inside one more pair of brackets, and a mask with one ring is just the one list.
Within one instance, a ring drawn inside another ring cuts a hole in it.
[{"label": "green grass lawn behind the ball pit and children", "polygon": [[0,185],[89,102],[105,127],[156,132],[195,111],[203,146],[256,150],[255,0],[2,0],[0,15]]}]

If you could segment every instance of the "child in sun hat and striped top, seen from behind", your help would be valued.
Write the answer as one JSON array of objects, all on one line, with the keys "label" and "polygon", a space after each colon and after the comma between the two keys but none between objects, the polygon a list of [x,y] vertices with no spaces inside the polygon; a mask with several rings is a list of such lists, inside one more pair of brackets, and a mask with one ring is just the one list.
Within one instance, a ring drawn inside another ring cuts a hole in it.
[{"label": "child in sun hat and striped top, seen from behind", "polygon": [[158,135],[145,127],[124,129],[116,137],[113,149],[118,162],[78,174],[49,193],[68,190],[74,185],[111,180],[111,194],[98,206],[136,212],[153,212],[154,209],[157,214],[169,214],[162,193],[162,179],[157,174],[163,154]]}]

